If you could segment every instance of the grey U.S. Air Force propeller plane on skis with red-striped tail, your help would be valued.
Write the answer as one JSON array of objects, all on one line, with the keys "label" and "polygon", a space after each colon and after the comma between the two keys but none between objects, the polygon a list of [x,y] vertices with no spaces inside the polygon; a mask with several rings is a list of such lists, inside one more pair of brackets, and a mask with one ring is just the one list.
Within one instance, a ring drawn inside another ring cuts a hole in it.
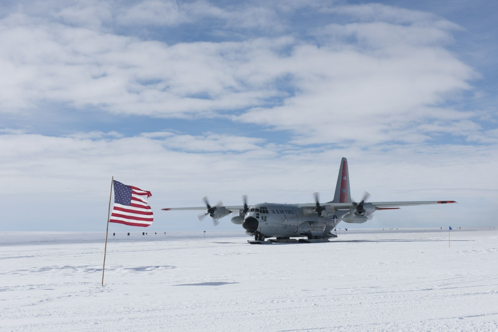
[{"label": "grey U.S. Air Force propeller plane on skis with red-striped tail", "polygon": [[[377,210],[399,209],[401,206],[447,204],[455,201],[415,201],[415,202],[353,202],[350,196],[348,160],[342,158],[339,176],[337,178],[334,199],[325,204],[319,203],[318,193],[315,193],[315,204],[275,204],[260,203],[252,206],[247,204],[247,196],[243,196],[244,205],[223,206],[220,202],[210,206],[206,197],[206,207],[166,208],[162,210],[207,210],[199,215],[202,220],[207,215],[213,218],[216,225],[218,219],[233,213],[232,222],[242,224],[246,233],[254,236],[248,240],[251,244],[272,242],[326,242],[337,237],[332,231],[341,221],[363,223],[373,218]],[[275,237],[265,241],[265,238]],[[292,237],[300,237],[299,240]]]}]

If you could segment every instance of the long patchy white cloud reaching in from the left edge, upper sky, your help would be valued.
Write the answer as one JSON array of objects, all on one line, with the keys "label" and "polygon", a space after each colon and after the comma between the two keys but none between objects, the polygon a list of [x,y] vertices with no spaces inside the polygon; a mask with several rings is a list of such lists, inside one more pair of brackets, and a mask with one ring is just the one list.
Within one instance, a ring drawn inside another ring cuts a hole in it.
[{"label": "long patchy white cloud reaching in from the left edge, upper sky", "polygon": [[289,38],[168,46],[59,23],[10,27],[19,17],[28,21],[11,15],[0,28],[3,112],[36,110],[48,101],[185,117],[246,108],[281,94],[271,74],[238,71],[251,56],[276,57]]}]

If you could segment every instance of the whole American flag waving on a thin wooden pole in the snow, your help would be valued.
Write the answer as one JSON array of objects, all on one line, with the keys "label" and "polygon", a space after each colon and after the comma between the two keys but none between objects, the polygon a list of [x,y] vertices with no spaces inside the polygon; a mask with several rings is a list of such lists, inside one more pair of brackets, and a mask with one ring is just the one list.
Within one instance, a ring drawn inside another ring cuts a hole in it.
[{"label": "whole American flag waving on a thin wooden pole in the snow", "polygon": [[109,221],[130,226],[150,226],[154,220],[152,209],[147,205],[150,196],[152,194],[149,191],[114,180],[114,206]]}]

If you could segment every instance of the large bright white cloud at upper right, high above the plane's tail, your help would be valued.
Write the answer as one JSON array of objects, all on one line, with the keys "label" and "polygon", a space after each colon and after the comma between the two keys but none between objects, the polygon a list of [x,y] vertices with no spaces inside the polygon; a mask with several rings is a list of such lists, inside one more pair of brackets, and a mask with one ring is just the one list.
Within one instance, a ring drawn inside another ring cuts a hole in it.
[{"label": "large bright white cloud at upper right, high above the plane's tail", "polygon": [[[470,90],[468,81],[478,77],[451,53],[433,45],[449,38],[446,31],[434,26],[354,23],[329,25],[317,34],[322,47],[296,46],[290,57],[282,59],[295,80],[296,96],[280,106],[255,108],[239,119],[292,130],[298,144],[365,145],[428,139],[433,134],[430,126],[417,127],[427,121],[440,120],[439,129],[459,131],[456,121],[446,118],[448,112],[454,114],[452,119],[472,116],[438,107]],[[351,37],[358,42],[343,41]],[[480,129],[470,120],[467,123],[467,133]],[[398,135],[413,126],[418,129],[415,136]]]}]

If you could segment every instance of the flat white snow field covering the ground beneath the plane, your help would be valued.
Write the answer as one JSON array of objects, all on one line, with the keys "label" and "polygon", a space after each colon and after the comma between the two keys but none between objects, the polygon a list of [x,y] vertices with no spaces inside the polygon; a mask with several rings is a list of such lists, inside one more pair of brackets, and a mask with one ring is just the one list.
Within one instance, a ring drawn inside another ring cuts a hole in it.
[{"label": "flat white snow field covering the ground beneath the plane", "polygon": [[104,238],[0,232],[0,331],[498,331],[498,228]]}]

